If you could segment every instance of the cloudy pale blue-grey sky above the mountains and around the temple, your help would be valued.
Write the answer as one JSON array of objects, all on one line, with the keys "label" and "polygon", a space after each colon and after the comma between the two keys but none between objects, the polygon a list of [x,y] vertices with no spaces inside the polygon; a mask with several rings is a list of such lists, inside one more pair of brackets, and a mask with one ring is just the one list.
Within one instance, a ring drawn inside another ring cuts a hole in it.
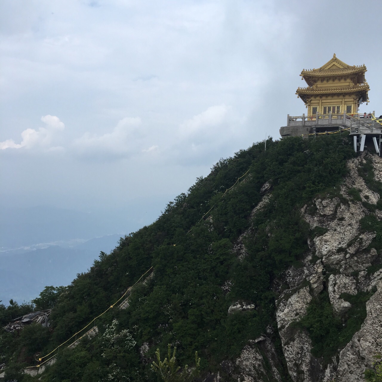
[{"label": "cloudy pale blue-grey sky above the mountains and around the temple", "polygon": [[333,53],[365,63],[360,111],[382,114],[381,14],[380,0],[3,0],[0,206],[136,230],[221,157],[279,139],[306,112],[299,73]]}]

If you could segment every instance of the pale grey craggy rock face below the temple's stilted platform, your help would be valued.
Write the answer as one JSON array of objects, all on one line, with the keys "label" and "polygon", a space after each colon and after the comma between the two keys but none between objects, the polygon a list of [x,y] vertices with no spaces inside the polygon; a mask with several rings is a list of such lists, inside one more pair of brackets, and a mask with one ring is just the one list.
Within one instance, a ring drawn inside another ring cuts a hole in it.
[{"label": "pale grey craggy rock face below the temple's stilted platform", "polygon": [[[370,245],[376,233],[361,232],[360,227],[360,220],[372,214],[364,204],[375,206],[380,197],[367,187],[358,173],[366,155],[372,160],[374,179],[381,181],[382,159],[365,153],[348,162],[349,175],[341,185],[342,197],[316,199],[314,212],[312,206],[301,210],[312,230],[320,227],[321,233],[325,233],[309,240],[310,250],[303,267],[291,268],[285,273],[282,282],[288,288],[277,301],[278,331],[293,381],[361,381],[364,370],[371,367],[373,355],[382,351],[382,269],[367,271],[372,264],[380,263],[380,254]],[[354,200],[354,189],[359,193],[358,201]],[[377,209],[374,214],[382,219],[382,211]],[[343,293],[356,296],[376,289],[366,303],[367,317],[361,329],[329,362],[312,355],[308,332],[294,324],[306,314],[312,298],[324,288],[338,317],[351,308],[351,303],[341,297]]]}]

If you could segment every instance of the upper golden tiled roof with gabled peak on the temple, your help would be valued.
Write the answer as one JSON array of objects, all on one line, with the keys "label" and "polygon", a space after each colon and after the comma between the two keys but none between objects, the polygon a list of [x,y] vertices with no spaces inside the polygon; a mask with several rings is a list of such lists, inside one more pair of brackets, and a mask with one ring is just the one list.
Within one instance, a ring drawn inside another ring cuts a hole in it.
[{"label": "upper golden tiled roof with gabled peak on the temple", "polygon": [[358,84],[365,82],[364,74],[367,71],[365,64],[350,66],[341,61],[334,54],[333,57],[318,69],[303,69],[300,76],[309,86],[317,83],[319,80],[332,79],[333,77],[352,77]]}]

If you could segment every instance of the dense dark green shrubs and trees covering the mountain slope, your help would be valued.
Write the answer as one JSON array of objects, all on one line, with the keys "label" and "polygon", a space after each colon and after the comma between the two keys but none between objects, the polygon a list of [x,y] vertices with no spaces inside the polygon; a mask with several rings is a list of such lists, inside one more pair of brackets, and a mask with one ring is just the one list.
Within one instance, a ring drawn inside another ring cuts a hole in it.
[{"label": "dense dark green shrubs and trees covering the mountain slope", "polygon": [[[272,284],[287,267],[299,266],[312,235],[300,209],[315,195],[331,192],[353,155],[348,138],[333,134],[309,140],[269,139],[266,152],[264,143],[258,143],[220,160],[209,176],[198,178],[187,194],[170,202],[156,222],[121,238],[117,248],[101,253],[89,272],[79,274],[67,288],[49,287],[34,300],[40,308],[54,306],[49,338],[42,336],[32,349],[24,334],[1,329],[0,362],[11,364],[12,370],[21,368],[23,361],[36,364],[34,359],[104,312],[153,266],[154,276],[134,287],[129,307],[109,309],[97,319],[97,337],[84,338],[74,349],[61,348],[42,381],[155,381],[158,376],[150,363],[142,362],[141,346],[147,344],[146,357],[155,359],[155,350],[165,353],[168,343],[177,346],[180,364],[192,364],[198,351],[202,371],[223,374],[222,360],[234,360],[249,339],[274,325]],[[272,184],[269,204],[251,218],[266,181]],[[240,261],[233,246],[246,231],[247,254]],[[230,291],[225,293],[222,286],[228,280]],[[236,301],[256,309],[228,314]],[[337,323],[326,303],[322,295],[309,309],[323,311],[323,321],[334,323],[335,330]],[[318,342],[322,333],[311,330],[314,323],[308,318],[304,325]],[[32,326],[28,338],[36,334]],[[34,353],[33,359],[19,356],[22,350]],[[280,374],[286,380],[285,365]]]}]

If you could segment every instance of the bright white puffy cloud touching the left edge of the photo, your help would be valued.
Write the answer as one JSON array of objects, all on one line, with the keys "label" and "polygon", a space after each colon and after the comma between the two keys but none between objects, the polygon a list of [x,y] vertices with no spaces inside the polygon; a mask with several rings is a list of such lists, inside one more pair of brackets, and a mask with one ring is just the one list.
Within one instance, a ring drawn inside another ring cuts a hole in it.
[{"label": "bright white puffy cloud touching the left edge of the photo", "polygon": [[45,123],[45,127],[35,129],[25,129],[21,133],[21,142],[15,143],[13,139],[6,139],[0,142],[0,149],[32,149],[39,148],[45,150],[62,149],[61,146],[53,146],[52,143],[57,138],[60,131],[65,129],[65,125],[60,118],[55,115],[45,115],[41,117],[41,121]]}]

